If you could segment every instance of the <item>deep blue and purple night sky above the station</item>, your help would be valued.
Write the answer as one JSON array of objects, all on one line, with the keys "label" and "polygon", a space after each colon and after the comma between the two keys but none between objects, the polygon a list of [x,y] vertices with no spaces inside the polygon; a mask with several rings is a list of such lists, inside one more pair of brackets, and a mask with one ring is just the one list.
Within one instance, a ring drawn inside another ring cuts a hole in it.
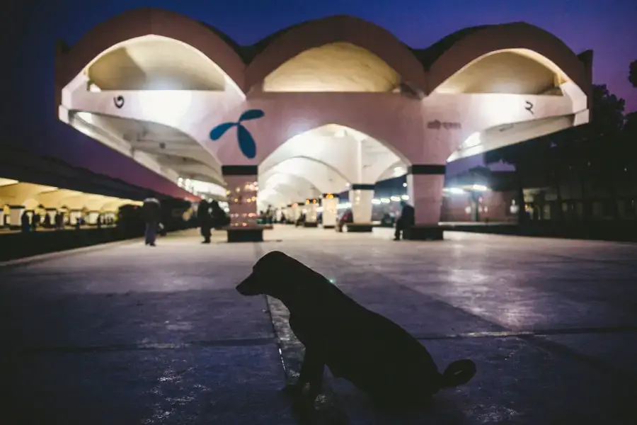
[{"label": "deep blue and purple night sky above the station", "polygon": [[[4,52],[11,54],[4,58],[13,57],[13,66],[1,67],[1,143],[32,147],[34,152],[164,192],[173,189],[161,177],[59,123],[53,100],[55,40],[73,45],[92,26],[142,6],[204,21],[240,44],[335,14],[372,21],[412,47],[427,47],[468,26],[526,21],[549,30],[575,53],[595,50],[594,82],[608,84],[626,99],[628,111],[637,110],[637,89],[627,79],[629,63],[637,59],[637,2],[630,0],[23,0],[11,4],[1,13],[1,42]],[[480,161],[471,159],[450,168]]]}]

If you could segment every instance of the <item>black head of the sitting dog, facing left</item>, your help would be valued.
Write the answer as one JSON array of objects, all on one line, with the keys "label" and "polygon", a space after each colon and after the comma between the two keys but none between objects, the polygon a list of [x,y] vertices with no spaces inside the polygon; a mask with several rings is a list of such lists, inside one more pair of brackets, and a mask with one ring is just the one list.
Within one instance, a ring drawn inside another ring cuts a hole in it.
[{"label": "black head of the sitting dog, facing left", "polygon": [[271,295],[289,292],[289,280],[299,271],[309,270],[299,261],[281,251],[262,256],[252,268],[250,276],[236,286],[241,295]]}]

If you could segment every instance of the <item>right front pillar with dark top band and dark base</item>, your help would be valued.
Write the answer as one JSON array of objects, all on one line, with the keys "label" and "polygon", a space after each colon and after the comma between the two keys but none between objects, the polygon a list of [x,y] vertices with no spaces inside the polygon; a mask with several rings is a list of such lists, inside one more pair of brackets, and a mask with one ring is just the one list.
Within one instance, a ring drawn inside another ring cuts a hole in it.
[{"label": "right front pillar with dark top band and dark base", "polygon": [[440,240],[442,227],[442,189],[446,166],[438,164],[413,164],[407,171],[407,193],[413,205],[415,225],[406,232],[405,239]]}]

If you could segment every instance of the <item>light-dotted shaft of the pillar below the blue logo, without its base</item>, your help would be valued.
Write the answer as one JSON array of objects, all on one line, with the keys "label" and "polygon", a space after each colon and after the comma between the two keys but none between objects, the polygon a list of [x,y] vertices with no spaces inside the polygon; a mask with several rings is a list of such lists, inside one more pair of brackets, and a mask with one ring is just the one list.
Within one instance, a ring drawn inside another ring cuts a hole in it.
[{"label": "light-dotted shaft of the pillar below the blue logo, without its base", "polygon": [[224,165],[222,174],[229,191],[230,227],[257,227],[258,167]]}]

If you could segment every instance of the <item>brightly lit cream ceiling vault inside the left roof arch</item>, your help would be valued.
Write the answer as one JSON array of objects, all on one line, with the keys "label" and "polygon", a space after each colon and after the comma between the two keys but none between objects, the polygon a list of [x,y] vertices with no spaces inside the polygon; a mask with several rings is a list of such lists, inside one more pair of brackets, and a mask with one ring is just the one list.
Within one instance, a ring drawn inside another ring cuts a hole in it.
[{"label": "brightly lit cream ceiling vault inside the left roof arch", "polygon": [[128,40],[88,66],[102,90],[224,90],[226,76],[201,52],[158,35]]}]

